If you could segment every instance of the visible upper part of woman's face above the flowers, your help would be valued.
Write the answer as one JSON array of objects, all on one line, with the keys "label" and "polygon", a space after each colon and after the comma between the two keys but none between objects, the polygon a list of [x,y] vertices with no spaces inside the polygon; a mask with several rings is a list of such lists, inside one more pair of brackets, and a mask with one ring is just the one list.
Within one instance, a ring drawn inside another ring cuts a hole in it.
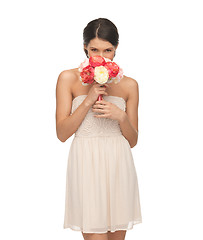
[{"label": "visible upper part of woman's face above the flowers", "polygon": [[88,51],[89,57],[99,55],[105,58],[109,58],[111,61],[113,61],[117,47],[114,47],[108,41],[94,38],[89,42],[87,46],[84,45],[84,48]]}]

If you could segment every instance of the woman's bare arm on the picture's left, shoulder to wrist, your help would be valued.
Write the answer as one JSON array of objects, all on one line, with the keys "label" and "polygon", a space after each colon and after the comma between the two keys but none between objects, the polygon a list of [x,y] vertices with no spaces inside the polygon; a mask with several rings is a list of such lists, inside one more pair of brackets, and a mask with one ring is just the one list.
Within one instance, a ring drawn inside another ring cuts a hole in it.
[{"label": "woman's bare arm on the picture's left, shoulder to wrist", "polygon": [[87,112],[91,108],[91,104],[85,99],[72,115],[72,93],[71,86],[76,80],[76,76],[70,70],[60,73],[56,85],[56,133],[61,142],[65,142],[71,137]]}]

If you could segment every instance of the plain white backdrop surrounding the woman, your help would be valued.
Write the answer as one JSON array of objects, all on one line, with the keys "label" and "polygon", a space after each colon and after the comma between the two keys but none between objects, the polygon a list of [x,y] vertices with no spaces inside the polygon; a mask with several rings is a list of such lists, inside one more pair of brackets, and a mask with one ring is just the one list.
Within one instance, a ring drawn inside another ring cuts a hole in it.
[{"label": "plain white backdrop surrounding the woman", "polygon": [[55,89],[99,17],[117,26],[114,61],[139,84],[143,222],[126,239],[203,239],[202,11],[197,0],[1,1],[1,239],[83,239],[63,229],[73,136],[56,136]]}]

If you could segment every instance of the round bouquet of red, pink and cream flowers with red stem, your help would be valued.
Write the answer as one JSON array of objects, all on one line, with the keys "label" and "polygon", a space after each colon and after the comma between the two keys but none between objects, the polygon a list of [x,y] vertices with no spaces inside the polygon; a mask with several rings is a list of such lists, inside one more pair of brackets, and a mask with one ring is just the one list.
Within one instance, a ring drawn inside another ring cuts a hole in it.
[{"label": "round bouquet of red, pink and cream flowers with red stem", "polygon": [[[99,84],[120,82],[123,78],[123,70],[118,64],[108,58],[101,56],[92,56],[85,59],[79,66],[80,81],[83,85],[92,84],[96,81]],[[102,94],[99,95],[98,101],[102,100]]]}]

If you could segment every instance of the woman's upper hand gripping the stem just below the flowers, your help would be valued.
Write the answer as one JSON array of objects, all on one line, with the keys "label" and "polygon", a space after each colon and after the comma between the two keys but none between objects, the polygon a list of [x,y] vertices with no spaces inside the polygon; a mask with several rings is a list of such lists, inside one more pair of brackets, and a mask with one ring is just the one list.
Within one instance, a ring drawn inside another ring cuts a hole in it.
[{"label": "woman's upper hand gripping the stem just below the flowers", "polygon": [[87,101],[90,105],[93,105],[97,101],[100,94],[108,95],[108,93],[106,92],[106,87],[109,87],[107,83],[99,84],[97,82],[94,82],[88,92],[85,101]]}]

